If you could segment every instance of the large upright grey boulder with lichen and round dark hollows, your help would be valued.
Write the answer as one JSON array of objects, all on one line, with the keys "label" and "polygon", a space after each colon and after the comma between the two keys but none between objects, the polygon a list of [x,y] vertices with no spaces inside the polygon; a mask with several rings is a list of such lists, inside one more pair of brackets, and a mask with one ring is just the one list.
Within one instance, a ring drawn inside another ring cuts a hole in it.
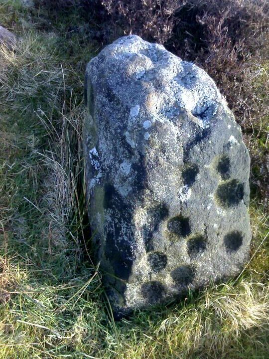
[{"label": "large upright grey boulder with lichen and round dark hollows", "polygon": [[214,81],[126,36],[89,62],[85,98],[89,218],[115,313],[239,273],[250,159]]}]

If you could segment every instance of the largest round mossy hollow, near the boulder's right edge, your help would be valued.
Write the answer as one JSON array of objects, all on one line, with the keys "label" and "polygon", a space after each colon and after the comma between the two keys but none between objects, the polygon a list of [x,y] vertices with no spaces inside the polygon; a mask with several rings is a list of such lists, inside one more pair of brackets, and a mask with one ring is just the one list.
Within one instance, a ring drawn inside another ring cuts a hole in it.
[{"label": "largest round mossy hollow, near the boulder's right edge", "polygon": [[244,198],[244,185],[237,179],[221,183],[216,191],[216,200],[222,207],[236,206]]}]

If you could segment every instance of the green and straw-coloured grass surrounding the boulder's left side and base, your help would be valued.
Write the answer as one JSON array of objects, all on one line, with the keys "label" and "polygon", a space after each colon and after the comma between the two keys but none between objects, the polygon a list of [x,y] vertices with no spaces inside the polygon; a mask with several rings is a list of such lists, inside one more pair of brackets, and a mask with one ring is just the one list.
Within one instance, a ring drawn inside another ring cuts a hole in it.
[{"label": "green and straw-coloured grass surrounding the boulder's left side and base", "polygon": [[113,321],[85,226],[83,76],[98,44],[67,36],[64,16],[42,30],[44,17],[19,1],[0,1],[0,15],[21,36],[0,49],[0,359],[268,358],[259,197],[239,278]]}]

